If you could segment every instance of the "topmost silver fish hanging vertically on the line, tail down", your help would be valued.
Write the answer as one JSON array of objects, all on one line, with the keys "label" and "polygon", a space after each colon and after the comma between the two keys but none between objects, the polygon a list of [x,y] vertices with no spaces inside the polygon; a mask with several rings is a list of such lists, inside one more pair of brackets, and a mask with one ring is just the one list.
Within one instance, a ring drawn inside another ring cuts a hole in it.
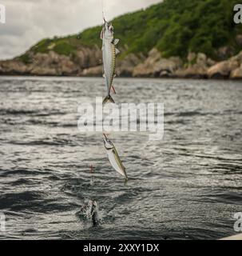
[{"label": "topmost silver fish hanging vertically on the line, tail down", "polygon": [[108,22],[104,19],[104,25],[101,30],[101,40],[102,40],[102,61],[103,61],[103,70],[105,78],[105,86],[107,89],[107,95],[103,100],[103,104],[106,102],[113,102],[113,98],[110,95],[110,90],[113,89],[113,78],[116,76],[116,55],[119,53],[116,46],[119,42],[119,39],[113,38],[113,26],[109,25]]}]

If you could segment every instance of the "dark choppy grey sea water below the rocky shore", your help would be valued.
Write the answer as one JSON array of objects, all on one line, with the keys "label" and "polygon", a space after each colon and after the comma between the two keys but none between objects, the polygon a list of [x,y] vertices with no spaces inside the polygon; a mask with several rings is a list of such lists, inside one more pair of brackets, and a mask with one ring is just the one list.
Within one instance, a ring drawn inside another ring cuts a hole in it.
[{"label": "dark choppy grey sea water below the rocky shore", "polygon": [[[123,102],[165,103],[165,138],[115,134],[124,184],[101,134],[77,130],[101,78],[0,78],[0,238],[220,238],[242,211],[242,84],[117,79]],[[95,166],[90,185],[89,164]],[[77,214],[90,198],[101,226]]]}]

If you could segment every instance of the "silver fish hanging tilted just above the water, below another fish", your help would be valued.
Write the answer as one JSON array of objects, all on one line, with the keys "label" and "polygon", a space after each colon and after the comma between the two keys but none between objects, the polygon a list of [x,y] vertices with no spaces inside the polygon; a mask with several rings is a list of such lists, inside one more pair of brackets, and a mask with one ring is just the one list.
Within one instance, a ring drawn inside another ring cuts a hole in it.
[{"label": "silver fish hanging tilted just above the water, below another fish", "polygon": [[117,154],[117,150],[115,146],[113,145],[113,142],[111,142],[105,134],[104,135],[104,146],[106,153],[109,158],[109,162],[113,166],[114,170],[117,170],[117,172],[121,175],[123,175],[126,180],[128,179],[128,176],[126,174],[125,166],[123,166],[121,159],[119,158],[119,155]]}]

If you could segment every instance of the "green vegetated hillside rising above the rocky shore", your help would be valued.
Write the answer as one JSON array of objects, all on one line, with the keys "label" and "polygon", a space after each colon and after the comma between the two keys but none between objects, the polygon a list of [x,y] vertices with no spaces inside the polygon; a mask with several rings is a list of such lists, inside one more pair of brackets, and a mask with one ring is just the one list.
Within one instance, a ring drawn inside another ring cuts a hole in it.
[{"label": "green vegetated hillside rising above the rocky shore", "polygon": [[[146,10],[114,18],[112,22],[116,37],[121,39],[119,47],[127,49],[123,56],[147,54],[156,46],[164,57],[184,58],[192,51],[216,59],[220,46],[231,46],[235,53],[241,50],[235,37],[242,34],[242,26],[235,25],[232,19],[236,3],[237,0],[165,0]],[[65,38],[43,39],[31,51],[54,50],[73,55],[80,46],[101,46],[100,31],[101,26],[96,26]],[[22,60],[27,62],[28,57],[23,55]]]}]

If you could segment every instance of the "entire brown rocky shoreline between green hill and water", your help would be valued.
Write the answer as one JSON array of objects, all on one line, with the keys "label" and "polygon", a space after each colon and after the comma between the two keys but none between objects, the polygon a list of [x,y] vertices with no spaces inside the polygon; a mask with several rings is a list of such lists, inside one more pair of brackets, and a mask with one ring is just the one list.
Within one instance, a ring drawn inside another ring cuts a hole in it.
[{"label": "entire brown rocky shoreline between green hill and water", "polygon": [[[27,52],[22,57],[0,61],[0,75],[77,76],[102,75],[101,50],[82,47],[74,56],[50,50],[48,53]],[[242,79],[242,51],[215,62],[205,54],[189,53],[184,61],[179,57],[162,58],[157,49],[143,54],[129,54],[117,61],[117,76],[133,78],[224,78]]]}]

